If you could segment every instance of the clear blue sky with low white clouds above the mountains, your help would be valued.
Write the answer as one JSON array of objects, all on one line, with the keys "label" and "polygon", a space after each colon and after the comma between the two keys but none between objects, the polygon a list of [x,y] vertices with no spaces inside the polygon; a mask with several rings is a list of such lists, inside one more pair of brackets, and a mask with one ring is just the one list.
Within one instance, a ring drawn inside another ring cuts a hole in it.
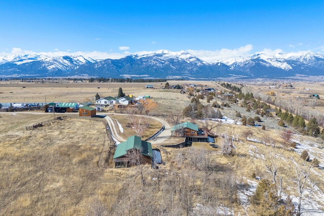
[{"label": "clear blue sky with low white clouds above the mountains", "polygon": [[0,55],[324,53],[324,1],[0,0]]}]

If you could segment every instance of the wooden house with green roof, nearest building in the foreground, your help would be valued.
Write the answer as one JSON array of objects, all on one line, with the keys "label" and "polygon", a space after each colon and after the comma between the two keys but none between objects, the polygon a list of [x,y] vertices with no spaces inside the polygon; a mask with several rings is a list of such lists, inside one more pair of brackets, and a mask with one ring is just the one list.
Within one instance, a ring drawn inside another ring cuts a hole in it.
[{"label": "wooden house with green roof, nearest building in the foreground", "polygon": [[145,163],[151,164],[153,157],[151,143],[142,141],[138,136],[132,136],[127,138],[127,141],[117,145],[113,156],[115,168],[130,166],[130,157],[127,154],[132,149],[138,150],[143,155]]}]

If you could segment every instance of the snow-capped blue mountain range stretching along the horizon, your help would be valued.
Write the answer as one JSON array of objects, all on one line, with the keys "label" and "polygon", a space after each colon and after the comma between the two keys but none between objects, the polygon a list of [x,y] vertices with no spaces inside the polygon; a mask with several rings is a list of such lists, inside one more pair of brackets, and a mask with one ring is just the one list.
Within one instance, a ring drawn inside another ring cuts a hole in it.
[{"label": "snow-capped blue mountain range stretching along the horizon", "polygon": [[0,78],[9,77],[130,77],[216,79],[287,78],[324,75],[324,55],[256,54],[250,57],[206,62],[190,53],[157,51],[121,59],[94,60],[84,56],[0,56]]}]

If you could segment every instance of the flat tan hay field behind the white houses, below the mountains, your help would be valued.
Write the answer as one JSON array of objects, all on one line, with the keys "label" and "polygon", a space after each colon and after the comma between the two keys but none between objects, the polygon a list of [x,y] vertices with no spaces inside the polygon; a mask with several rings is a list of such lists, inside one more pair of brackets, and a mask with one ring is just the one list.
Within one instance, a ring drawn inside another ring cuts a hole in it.
[{"label": "flat tan hay field behind the white houses, below the mountains", "polygon": [[[168,81],[171,84],[189,83],[188,81]],[[192,82],[191,82],[192,83]],[[199,81],[196,84],[206,86],[212,82]],[[146,84],[153,84],[154,89],[145,89]],[[1,81],[0,103],[51,103],[51,102],[94,102],[98,93],[101,98],[117,96],[121,87],[126,95],[149,95],[158,104],[157,114],[182,111],[189,101],[179,90],[163,90],[165,82],[157,83],[97,83],[97,82],[60,82],[41,83],[25,81]],[[24,88],[23,88],[24,87]],[[177,104],[177,106],[175,106]]]}]

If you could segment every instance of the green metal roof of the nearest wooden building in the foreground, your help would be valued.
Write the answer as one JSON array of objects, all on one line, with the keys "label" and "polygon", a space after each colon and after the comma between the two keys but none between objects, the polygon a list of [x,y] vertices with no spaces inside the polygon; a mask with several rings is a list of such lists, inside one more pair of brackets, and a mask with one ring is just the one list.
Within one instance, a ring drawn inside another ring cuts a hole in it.
[{"label": "green metal roof of the nearest wooden building in the foreground", "polygon": [[149,157],[153,156],[151,143],[142,141],[141,138],[137,136],[129,137],[127,138],[127,141],[117,145],[113,159],[126,155],[127,151],[130,149],[140,150],[141,148],[143,148],[141,154]]}]

